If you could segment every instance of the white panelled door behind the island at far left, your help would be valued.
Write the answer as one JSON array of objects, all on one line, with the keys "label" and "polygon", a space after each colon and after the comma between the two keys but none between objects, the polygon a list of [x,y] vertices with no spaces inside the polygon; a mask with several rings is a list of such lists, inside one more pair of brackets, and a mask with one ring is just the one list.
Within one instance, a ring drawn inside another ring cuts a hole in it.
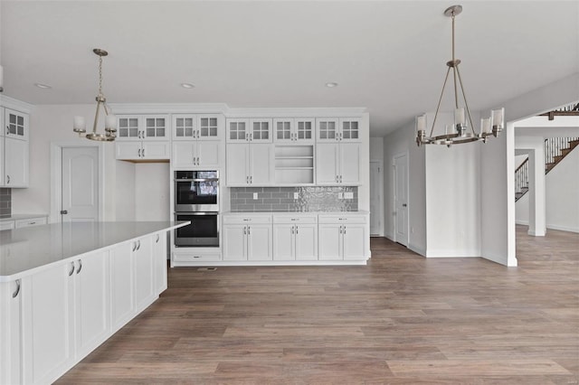
[{"label": "white panelled door behind the island at far left", "polygon": [[99,149],[62,147],[62,221],[99,221]]}]

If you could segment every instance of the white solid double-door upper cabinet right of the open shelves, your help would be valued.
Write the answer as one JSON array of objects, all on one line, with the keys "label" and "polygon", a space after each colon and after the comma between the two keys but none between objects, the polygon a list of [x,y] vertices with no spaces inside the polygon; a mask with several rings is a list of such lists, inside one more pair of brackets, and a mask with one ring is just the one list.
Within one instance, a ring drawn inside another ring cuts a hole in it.
[{"label": "white solid double-door upper cabinet right of the open shelves", "polygon": [[316,146],[317,184],[359,184],[361,148],[359,143],[318,143]]}]

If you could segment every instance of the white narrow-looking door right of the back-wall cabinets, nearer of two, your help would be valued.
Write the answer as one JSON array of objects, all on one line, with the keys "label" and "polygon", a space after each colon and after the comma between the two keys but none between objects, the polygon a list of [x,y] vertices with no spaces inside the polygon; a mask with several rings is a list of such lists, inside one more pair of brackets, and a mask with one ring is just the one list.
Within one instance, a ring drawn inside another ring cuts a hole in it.
[{"label": "white narrow-looking door right of the back-wall cabinets, nearer of two", "polygon": [[394,240],[408,246],[408,156],[394,156]]}]

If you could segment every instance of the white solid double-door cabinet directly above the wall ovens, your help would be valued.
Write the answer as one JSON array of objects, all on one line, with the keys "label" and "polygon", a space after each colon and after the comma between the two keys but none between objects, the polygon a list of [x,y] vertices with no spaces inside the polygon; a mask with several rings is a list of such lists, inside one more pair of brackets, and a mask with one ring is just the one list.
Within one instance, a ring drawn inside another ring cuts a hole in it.
[{"label": "white solid double-door cabinet directly above the wall ovens", "polygon": [[174,167],[219,167],[222,144],[218,141],[175,141],[171,162]]}]

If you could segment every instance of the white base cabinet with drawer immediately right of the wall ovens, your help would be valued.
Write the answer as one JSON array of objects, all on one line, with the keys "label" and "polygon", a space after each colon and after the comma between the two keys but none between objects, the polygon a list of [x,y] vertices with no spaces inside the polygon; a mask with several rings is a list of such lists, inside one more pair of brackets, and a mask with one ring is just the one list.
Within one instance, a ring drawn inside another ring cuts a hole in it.
[{"label": "white base cabinet with drawer immediately right of the wall ovens", "polygon": [[270,214],[224,215],[223,260],[272,259]]}]

